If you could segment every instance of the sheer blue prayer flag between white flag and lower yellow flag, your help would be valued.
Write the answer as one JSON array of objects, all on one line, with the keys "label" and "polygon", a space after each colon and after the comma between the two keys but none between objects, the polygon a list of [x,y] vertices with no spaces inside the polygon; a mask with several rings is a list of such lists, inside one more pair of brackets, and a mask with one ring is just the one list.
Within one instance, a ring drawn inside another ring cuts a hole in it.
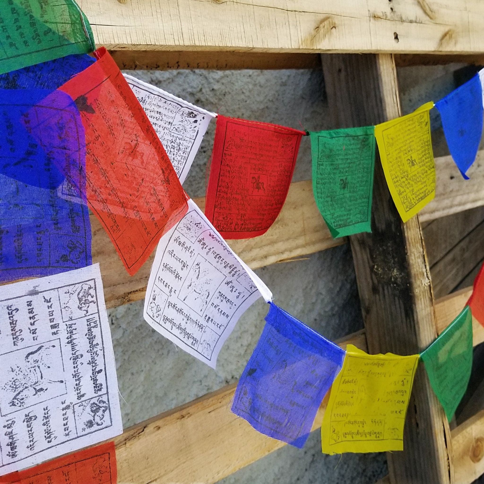
[{"label": "sheer blue prayer flag between white flag and lower yellow flag", "polygon": [[231,411],[257,431],[302,448],[345,352],[271,302]]}]

